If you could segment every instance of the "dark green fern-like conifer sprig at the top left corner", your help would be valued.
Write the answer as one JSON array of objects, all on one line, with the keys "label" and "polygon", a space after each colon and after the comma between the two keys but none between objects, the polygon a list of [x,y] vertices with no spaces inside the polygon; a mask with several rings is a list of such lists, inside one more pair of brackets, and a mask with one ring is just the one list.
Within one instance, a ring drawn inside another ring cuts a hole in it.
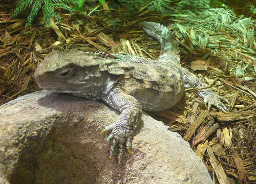
[{"label": "dark green fern-like conifer sprig at the top left corner", "polygon": [[62,8],[68,12],[74,12],[74,10],[69,7],[67,4],[77,5],[76,0],[19,0],[16,4],[16,8],[12,13],[12,16],[17,16],[24,10],[26,10],[29,6],[32,6],[31,12],[27,18],[28,25],[32,25],[32,21],[34,20],[37,12],[40,10],[42,6],[42,12],[44,13],[44,20],[47,27],[50,27],[51,18],[55,17],[57,21],[60,21],[59,14],[54,12],[54,8]]}]

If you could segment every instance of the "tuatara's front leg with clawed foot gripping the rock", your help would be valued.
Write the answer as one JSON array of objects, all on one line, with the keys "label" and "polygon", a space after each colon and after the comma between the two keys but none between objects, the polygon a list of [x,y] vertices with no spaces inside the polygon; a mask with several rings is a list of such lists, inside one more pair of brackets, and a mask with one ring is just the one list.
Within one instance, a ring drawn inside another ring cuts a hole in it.
[{"label": "tuatara's front leg with clawed foot gripping the rock", "polygon": [[116,123],[106,126],[105,129],[101,131],[101,135],[104,132],[110,133],[106,139],[107,142],[113,140],[110,148],[110,159],[118,146],[118,164],[121,164],[125,142],[129,153],[133,153],[131,151],[132,138],[134,130],[141,121],[142,107],[137,99],[127,95],[118,86],[113,88],[103,98],[103,101],[120,111],[120,115]]}]

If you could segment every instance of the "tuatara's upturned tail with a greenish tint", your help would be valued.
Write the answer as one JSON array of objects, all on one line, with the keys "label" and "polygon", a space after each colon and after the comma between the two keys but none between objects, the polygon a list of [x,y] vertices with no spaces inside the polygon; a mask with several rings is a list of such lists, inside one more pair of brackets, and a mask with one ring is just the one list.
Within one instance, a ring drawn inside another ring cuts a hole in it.
[{"label": "tuatara's upturned tail with a greenish tint", "polygon": [[173,58],[172,56],[175,56],[177,62],[179,62],[178,42],[168,28],[150,21],[143,21],[142,28],[149,36],[157,39],[161,44],[159,59],[164,59],[165,57]]}]

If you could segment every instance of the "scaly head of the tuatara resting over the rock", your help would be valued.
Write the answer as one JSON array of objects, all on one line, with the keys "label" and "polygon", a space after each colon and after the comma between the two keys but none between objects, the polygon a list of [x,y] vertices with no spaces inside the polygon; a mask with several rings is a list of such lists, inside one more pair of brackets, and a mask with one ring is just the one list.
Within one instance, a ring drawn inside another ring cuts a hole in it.
[{"label": "scaly head of the tuatara resting over the rock", "polygon": [[[100,93],[105,80],[100,68],[108,62],[104,57],[81,51],[55,51],[37,66],[34,79],[42,89],[76,96],[92,96],[91,93]],[[90,94],[87,91],[91,91]]]}]

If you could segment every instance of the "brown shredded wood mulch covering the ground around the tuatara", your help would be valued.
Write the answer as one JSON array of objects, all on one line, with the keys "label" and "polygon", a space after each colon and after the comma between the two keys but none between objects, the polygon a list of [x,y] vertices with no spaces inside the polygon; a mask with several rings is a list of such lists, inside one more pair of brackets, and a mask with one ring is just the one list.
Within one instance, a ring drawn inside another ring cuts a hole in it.
[{"label": "brown shredded wood mulch covering the ground around the tuatara", "polygon": [[[108,5],[88,15],[96,6],[96,3],[89,3],[87,13],[65,14],[58,11],[62,21],[51,21],[51,28],[48,29],[44,27],[41,14],[38,14],[32,27],[27,27],[28,14],[10,17],[15,2],[0,5],[0,104],[39,90],[33,80],[33,72],[38,63],[53,50],[76,48],[105,53],[122,51],[157,58],[160,46],[143,32],[141,21],[151,20],[170,25],[174,21],[172,18],[141,9],[136,17],[126,19],[122,10],[108,11]],[[115,27],[109,26],[110,20],[114,19],[120,20],[120,23]],[[168,28],[174,29],[172,26]],[[254,53],[251,53],[232,49],[225,42],[218,43],[217,50],[191,50],[186,37],[180,37],[179,32],[174,33],[180,43],[182,65],[189,70],[196,70],[196,75],[225,97],[230,102],[226,104],[230,113],[215,108],[209,112],[203,100],[194,93],[197,89],[188,89],[174,108],[151,115],[164,121],[170,130],[177,131],[190,143],[207,166],[214,183],[255,183],[255,79],[246,81],[243,80],[244,76],[227,70],[231,66],[238,70],[245,67],[241,66],[242,61],[247,64],[246,67],[256,68],[255,37]],[[229,34],[225,38],[230,42],[237,39]],[[256,77],[255,71],[244,75]]]}]

